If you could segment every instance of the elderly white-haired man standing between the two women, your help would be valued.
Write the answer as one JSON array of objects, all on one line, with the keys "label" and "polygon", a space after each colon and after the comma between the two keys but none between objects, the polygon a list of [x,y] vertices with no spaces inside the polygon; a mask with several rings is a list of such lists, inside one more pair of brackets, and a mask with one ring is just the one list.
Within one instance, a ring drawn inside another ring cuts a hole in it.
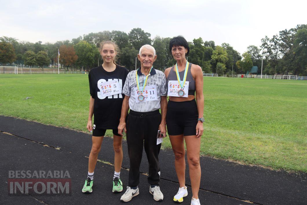
[{"label": "elderly white-haired man standing between the two women", "polygon": [[[164,73],[152,66],[156,59],[155,49],[151,45],[143,45],[138,54],[141,67],[128,74],[122,89],[125,98],[122,103],[118,133],[120,135],[123,131],[127,133],[130,159],[128,187],[120,198],[122,202],[128,202],[139,194],[139,171],[143,146],[149,163],[149,191],[154,200],[163,200],[163,194],[159,187],[158,155],[161,148],[161,138],[166,135],[167,87]],[[129,107],[130,112],[126,119]]]}]

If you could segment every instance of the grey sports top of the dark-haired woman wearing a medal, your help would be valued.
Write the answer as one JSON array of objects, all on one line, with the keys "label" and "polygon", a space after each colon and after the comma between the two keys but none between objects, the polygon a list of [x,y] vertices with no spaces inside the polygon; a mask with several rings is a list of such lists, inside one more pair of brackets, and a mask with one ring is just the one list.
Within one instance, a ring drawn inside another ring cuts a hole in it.
[{"label": "grey sports top of the dark-haired woman wearing a medal", "polygon": [[[191,66],[192,66],[192,63],[189,63],[186,81],[189,82],[188,95],[195,95],[195,80],[191,73]],[[166,85],[169,84],[169,81],[177,81],[177,74],[176,74],[176,71],[174,71],[174,67],[175,65],[173,65],[171,71],[169,72],[169,75],[167,76]],[[184,75],[185,75],[185,70],[179,72],[179,76],[181,80],[183,79]]]}]

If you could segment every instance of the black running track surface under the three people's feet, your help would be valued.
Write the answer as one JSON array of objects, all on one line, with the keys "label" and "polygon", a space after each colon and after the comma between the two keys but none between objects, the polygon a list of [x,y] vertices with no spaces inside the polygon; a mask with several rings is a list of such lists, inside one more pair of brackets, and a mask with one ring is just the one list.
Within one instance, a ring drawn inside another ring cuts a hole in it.
[{"label": "black running track surface under the three people's feet", "polygon": [[[114,173],[113,139],[105,137],[99,153],[91,194],[81,189],[87,177],[91,135],[66,128],[0,116],[0,203],[1,204],[124,204],[112,193]],[[48,146],[44,146],[48,145]],[[59,148],[59,149],[56,149]],[[129,159],[123,141],[121,180],[126,190]],[[156,202],[149,193],[146,173],[148,163],[143,152],[140,172],[140,194],[128,204],[176,204],[173,195],[179,183],[174,168],[172,150],[161,150],[160,187],[164,200]],[[109,164],[111,163],[111,164]],[[241,165],[225,160],[201,157],[202,170],[199,198],[201,204],[307,204],[307,174],[272,171],[256,166]],[[68,170],[72,191],[64,195],[8,195],[9,170]],[[192,191],[186,166],[188,196],[181,204],[190,204]]]}]

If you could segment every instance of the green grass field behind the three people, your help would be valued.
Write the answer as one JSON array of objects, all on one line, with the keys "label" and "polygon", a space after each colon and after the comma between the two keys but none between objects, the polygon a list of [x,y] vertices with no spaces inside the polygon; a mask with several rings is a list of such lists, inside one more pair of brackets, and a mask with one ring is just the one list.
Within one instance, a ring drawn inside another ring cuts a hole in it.
[{"label": "green grass field behind the three people", "polygon": [[[0,75],[0,90],[1,115],[86,131],[87,75]],[[204,77],[204,97],[202,155],[307,172],[307,81]]]}]

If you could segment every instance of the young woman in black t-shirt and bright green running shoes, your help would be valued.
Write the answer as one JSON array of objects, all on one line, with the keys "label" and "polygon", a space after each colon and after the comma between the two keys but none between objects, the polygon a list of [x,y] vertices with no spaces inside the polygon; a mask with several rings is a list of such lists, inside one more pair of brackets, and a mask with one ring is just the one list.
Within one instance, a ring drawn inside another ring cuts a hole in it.
[{"label": "young woman in black t-shirt and bright green running shoes", "polygon": [[[122,86],[125,84],[128,70],[115,63],[117,51],[118,47],[114,42],[103,41],[100,44],[100,54],[103,58],[103,64],[91,69],[88,73],[91,97],[87,130],[93,132],[93,136],[91,153],[88,159],[88,175],[82,189],[84,193],[92,192],[94,169],[103,136],[107,129],[113,130],[113,148],[115,152],[115,171],[112,191],[122,191],[122,182],[119,179],[122,166],[122,136],[119,136],[117,126],[119,124],[123,101]],[[109,81],[110,83],[107,83]],[[118,94],[111,95],[110,92]],[[94,124],[92,124],[93,114]]]}]

